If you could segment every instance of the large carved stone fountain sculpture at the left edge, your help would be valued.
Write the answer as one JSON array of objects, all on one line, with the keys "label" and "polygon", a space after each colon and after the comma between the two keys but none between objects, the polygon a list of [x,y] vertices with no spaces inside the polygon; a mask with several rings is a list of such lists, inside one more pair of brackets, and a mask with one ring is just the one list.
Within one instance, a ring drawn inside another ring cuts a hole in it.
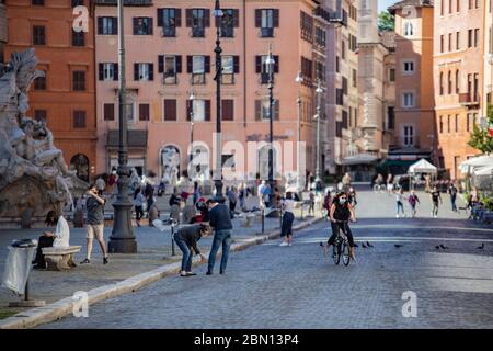
[{"label": "large carved stone fountain sculpture at the left edge", "polygon": [[[73,205],[70,190],[81,186],[44,121],[25,115],[27,90],[43,72],[34,49],[13,53],[0,77],[0,217],[44,218]],[[87,185],[87,184],[85,184]]]}]

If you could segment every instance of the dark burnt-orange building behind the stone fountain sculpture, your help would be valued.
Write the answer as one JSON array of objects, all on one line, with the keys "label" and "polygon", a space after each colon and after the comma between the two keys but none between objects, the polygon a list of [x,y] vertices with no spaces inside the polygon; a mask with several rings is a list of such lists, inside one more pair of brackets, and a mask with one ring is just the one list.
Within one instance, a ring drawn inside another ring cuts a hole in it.
[{"label": "dark burnt-orange building behind the stone fountain sculpture", "polygon": [[[5,1],[4,59],[8,61],[12,52],[34,47],[38,69],[45,71],[45,78],[31,86],[27,115],[47,121],[55,145],[85,181],[95,176],[96,159],[94,32],[90,2]],[[79,5],[83,8],[73,14]]]}]

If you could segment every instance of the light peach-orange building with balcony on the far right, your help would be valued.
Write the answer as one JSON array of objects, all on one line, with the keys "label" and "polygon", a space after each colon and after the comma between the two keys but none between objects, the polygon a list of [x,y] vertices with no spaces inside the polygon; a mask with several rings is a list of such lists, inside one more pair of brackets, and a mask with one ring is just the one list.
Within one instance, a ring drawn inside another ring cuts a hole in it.
[{"label": "light peach-orange building with balcony on the far right", "polygon": [[[486,97],[484,9],[486,1],[437,0],[434,77],[438,165],[450,179],[459,165],[479,151],[467,143],[480,122]],[[486,35],[488,37],[488,35]]]}]

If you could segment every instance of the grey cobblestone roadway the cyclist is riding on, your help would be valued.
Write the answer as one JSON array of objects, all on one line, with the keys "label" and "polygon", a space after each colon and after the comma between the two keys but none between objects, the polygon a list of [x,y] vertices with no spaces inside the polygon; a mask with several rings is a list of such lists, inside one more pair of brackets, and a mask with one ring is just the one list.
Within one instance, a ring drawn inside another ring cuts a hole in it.
[{"label": "grey cobblestone roadway the cyclist is riding on", "polygon": [[[447,203],[429,218],[421,195],[422,218],[395,219],[393,197],[360,193],[357,261],[347,268],[323,257],[320,223],[293,247],[268,241],[231,254],[226,275],[199,267],[197,276],[167,278],[42,328],[492,328],[492,227]],[[403,317],[404,292],[416,295],[416,317]]]}]

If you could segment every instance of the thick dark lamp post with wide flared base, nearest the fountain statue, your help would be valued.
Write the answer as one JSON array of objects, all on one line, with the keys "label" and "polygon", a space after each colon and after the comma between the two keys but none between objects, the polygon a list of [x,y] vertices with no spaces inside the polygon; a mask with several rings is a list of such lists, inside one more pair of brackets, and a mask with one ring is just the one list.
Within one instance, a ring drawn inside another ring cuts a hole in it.
[{"label": "thick dark lamp post with wide flared base, nearest the fountain statue", "polygon": [[115,216],[113,223],[113,230],[110,237],[108,251],[118,253],[135,253],[137,252],[137,241],[135,240],[134,229],[131,226],[131,207],[133,204],[128,199],[128,183],[130,171],[128,163],[128,145],[127,145],[127,116],[126,116],[126,82],[125,82],[125,42],[124,42],[124,16],[123,2],[118,0],[118,123],[119,123],[119,138],[118,138],[118,194],[113,204],[115,208]]}]

